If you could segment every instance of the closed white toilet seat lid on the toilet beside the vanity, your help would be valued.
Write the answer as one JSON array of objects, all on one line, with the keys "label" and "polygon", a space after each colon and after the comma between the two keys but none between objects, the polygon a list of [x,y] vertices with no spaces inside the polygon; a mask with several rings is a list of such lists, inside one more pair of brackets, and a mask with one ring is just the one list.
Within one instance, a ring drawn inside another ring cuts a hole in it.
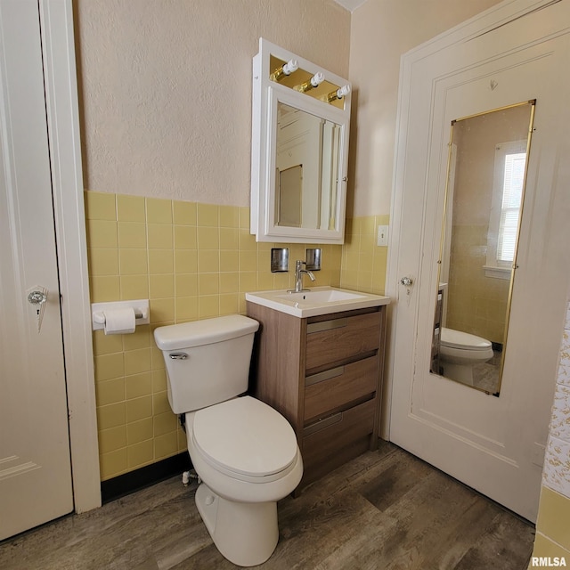
[{"label": "closed white toilet seat lid on the toilet beside the vanity", "polygon": [[192,442],[216,470],[261,483],[295,468],[298,448],[293,428],[267,404],[243,396],[192,415]]}]

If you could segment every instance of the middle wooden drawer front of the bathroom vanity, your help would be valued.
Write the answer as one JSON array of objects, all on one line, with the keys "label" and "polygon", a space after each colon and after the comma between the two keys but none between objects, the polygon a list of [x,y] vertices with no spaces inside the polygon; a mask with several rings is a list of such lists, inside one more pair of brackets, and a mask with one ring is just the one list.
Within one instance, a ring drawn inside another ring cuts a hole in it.
[{"label": "middle wooden drawer front of the bathroom vanity", "polygon": [[346,403],[373,395],[378,385],[378,358],[371,356],[305,378],[305,422],[328,415]]}]

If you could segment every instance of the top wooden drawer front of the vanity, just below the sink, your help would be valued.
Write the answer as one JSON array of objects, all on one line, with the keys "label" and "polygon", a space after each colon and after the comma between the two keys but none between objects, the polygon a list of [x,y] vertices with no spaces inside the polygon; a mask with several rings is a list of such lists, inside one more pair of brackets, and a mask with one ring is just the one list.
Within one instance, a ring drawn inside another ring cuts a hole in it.
[{"label": "top wooden drawer front of the vanity, just below the sink", "polygon": [[378,349],[380,314],[358,314],[309,322],[306,327],[305,370],[326,366]]}]

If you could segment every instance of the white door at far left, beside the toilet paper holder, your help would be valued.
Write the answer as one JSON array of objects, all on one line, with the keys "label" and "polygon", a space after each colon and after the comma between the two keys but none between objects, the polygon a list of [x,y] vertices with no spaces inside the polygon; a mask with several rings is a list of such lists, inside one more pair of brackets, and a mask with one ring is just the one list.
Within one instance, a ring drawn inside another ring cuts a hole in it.
[{"label": "white door at far left, beside the toilet paper holder", "polygon": [[73,510],[37,0],[0,1],[0,117],[1,540]]}]

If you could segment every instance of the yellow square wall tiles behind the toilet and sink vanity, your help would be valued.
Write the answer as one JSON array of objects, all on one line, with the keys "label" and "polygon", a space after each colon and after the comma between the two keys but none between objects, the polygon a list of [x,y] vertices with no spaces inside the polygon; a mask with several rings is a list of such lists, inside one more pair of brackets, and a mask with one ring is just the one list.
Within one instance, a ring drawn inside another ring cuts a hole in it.
[{"label": "yellow square wall tiles behind the toilet and sink vanity", "polygon": [[[154,328],[245,314],[245,292],[292,287],[294,261],[315,246],[257,243],[249,208],[86,191],[85,210],[92,302],[149,298],[151,306],[151,324],[134,334],[94,331],[106,480],[186,450]],[[348,220],[344,246],[319,246],[314,285],[383,293],[387,248],[375,246],[378,224],[387,216]],[[271,273],[272,247],[289,247],[289,273]]]}]

